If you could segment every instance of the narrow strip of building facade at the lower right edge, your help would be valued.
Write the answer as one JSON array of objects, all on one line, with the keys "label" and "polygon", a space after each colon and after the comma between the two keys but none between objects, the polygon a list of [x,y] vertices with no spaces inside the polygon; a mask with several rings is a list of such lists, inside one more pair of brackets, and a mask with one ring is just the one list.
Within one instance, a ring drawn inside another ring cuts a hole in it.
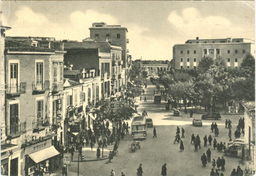
[{"label": "narrow strip of building facade at the lower right edge", "polygon": [[244,101],[244,165],[255,174],[255,102]]}]

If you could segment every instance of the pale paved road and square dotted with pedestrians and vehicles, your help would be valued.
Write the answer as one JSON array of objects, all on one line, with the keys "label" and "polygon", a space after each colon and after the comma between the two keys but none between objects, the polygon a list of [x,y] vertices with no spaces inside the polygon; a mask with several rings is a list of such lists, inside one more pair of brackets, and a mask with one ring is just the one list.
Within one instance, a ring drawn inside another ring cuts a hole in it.
[{"label": "pale paved road and square dotted with pedestrians and vehicles", "polygon": [[[80,163],[80,172],[84,176],[109,176],[111,169],[115,170],[116,176],[121,175],[123,172],[126,176],[135,176],[137,168],[142,163],[144,176],[160,176],[161,167],[164,163],[167,164],[167,175],[172,176],[209,176],[212,164],[207,164],[207,167],[202,167],[201,155],[206,153],[208,147],[212,151],[212,159],[217,160],[218,157],[224,156],[224,153],[219,153],[213,150],[212,146],[207,144],[204,146],[203,138],[205,135],[212,135],[214,133],[210,130],[210,124],[214,120],[204,120],[203,127],[192,126],[192,118],[189,114],[180,113],[180,117],[174,117],[173,111],[166,112],[165,101],[162,99],[161,104],[154,104],[155,86],[150,84],[148,79],[148,86],[145,89],[145,95],[142,96],[142,101],[137,98],[138,112],[142,113],[143,110],[148,112],[148,118],[153,119],[154,127],[157,130],[157,138],[152,138],[153,128],[148,128],[148,137],[140,141],[141,148],[131,153],[131,135],[125,136],[125,139],[119,144],[119,155],[114,157],[111,163],[105,164],[106,160],[97,162],[82,162]],[[144,102],[144,97],[147,97],[147,102]],[[217,142],[227,142],[228,130],[225,129],[225,120],[230,119],[233,122],[233,129],[237,124],[240,117],[243,115],[221,115],[222,119],[217,120],[219,128],[219,136],[216,137]],[[193,118],[201,118],[201,114],[194,114]],[[130,124],[131,121],[128,121]],[[185,150],[180,152],[180,144],[173,144],[174,136],[177,126],[185,129],[185,138],[182,139]],[[194,146],[190,144],[192,133],[199,134],[201,138],[201,149],[194,152]],[[234,133],[232,131],[232,133]],[[242,136],[243,137],[243,136]],[[113,145],[110,146],[112,148]],[[104,155],[106,155],[105,153]],[[239,159],[224,156],[226,160],[224,176],[230,175],[233,168],[238,165]],[[69,168],[72,172],[77,172],[76,163],[73,162],[73,167]]]}]

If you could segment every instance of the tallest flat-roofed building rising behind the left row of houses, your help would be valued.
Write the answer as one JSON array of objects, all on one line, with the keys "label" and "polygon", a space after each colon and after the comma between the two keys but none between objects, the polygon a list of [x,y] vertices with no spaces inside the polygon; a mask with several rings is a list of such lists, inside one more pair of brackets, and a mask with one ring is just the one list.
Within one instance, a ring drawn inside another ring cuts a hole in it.
[{"label": "tallest flat-roofed building rising behind the left row of houses", "polygon": [[[122,27],[121,25],[107,25],[106,23],[93,23],[93,26],[90,29],[90,38],[94,40],[98,39],[107,39],[111,45],[119,45],[122,47],[122,68],[128,68],[127,53],[127,43],[129,39],[127,38],[127,28]],[[127,75],[125,75],[125,82]]]}]

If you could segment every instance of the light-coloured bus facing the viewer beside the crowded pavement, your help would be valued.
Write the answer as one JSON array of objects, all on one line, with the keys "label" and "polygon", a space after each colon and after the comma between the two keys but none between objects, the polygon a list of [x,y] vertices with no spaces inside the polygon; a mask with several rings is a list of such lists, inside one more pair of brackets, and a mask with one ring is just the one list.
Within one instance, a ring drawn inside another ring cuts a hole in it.
[{"label": "light-coloured bus facing the viewer beside the crowded pavement", "polygon": [[147,125],[145,116],[137,116],[132,119],[131,137],[134,139],[147,137]]}]

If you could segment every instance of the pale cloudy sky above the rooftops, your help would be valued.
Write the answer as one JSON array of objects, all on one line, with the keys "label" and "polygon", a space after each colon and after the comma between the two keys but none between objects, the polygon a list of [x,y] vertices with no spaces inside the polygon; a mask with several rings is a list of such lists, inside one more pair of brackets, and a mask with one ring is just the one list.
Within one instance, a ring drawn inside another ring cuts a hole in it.
[{"label": "pale cloudy sky above the rooftops", "polygon": [[94,22],[128,28],[133,60],[171,60],[186,40],[255,40],[254,1],[0,1],[6,36],[90,37]]}]

